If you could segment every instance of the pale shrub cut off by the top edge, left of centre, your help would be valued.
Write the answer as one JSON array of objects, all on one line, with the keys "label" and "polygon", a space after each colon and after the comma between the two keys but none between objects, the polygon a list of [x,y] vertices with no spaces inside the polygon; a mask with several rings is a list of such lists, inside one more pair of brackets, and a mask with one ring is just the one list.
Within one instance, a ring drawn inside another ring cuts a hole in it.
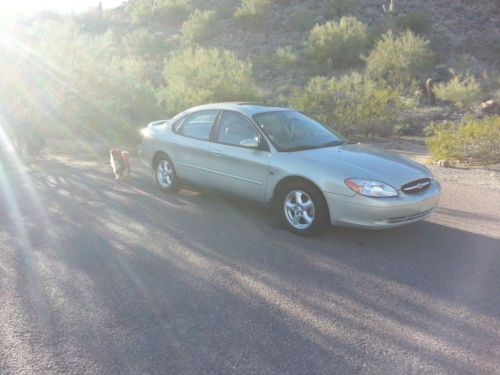
[{"label": "pale shrub cut off by the top edge, left of centre", "polygon": [[192,5],[189,0],[136,0],[127,3],[127,10],[136,23],[180,25],[191,13]]}]

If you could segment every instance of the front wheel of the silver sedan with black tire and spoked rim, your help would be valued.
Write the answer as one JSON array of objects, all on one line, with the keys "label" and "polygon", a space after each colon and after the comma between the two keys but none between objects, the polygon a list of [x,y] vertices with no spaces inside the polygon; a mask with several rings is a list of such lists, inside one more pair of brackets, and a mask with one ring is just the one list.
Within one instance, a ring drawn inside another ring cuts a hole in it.
[{"label": "front wheel of the silver sedan with black tire and spoked rim", "polygon": [[298,235],[318,234],[329,222],[323,194],[306,181],[287,184],[281,189],[276,203],[282,223]]}]

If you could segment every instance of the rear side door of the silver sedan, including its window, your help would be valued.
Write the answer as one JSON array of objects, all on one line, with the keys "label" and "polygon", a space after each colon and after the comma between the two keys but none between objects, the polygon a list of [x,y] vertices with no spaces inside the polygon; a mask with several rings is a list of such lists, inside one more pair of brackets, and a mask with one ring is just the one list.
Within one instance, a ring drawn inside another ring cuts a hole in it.
[{"label": "rear side door of the silver sedan, including its window", "polygon": [[180,179],[205,186],[210,158],[210,132],[218,110],[190,114],[173,129],[173,163]]}]

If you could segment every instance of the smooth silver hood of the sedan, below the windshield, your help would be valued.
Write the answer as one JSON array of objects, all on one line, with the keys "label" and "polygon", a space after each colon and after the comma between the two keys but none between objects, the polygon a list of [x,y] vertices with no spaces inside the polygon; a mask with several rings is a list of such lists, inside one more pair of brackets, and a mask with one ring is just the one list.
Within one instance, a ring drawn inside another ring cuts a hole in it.
[{"label": "smooth silver hood of the sedan, below the windshield", "polygon": [[377,180],[397,189],[419,178],[432,178],[429,170],[417,162],[367,145],[345,144],[297,154],[316,166],[331,170],[337,176]]}]

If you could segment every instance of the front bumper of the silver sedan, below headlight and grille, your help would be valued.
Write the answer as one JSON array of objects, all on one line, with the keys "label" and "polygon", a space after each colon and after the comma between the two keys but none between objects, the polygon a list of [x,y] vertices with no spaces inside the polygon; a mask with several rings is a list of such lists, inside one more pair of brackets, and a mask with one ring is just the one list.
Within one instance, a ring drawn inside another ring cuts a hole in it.
[{"label": "front bumper of the silver sedan, below headlight and grille", "polygon": [[370,229],[394,228],[428,217],[437,206],[441,186],[431,186],[417,194],[400,193],[394,198],[370,198],[359,194],[343,196],[324,193],[333,225]]}]

